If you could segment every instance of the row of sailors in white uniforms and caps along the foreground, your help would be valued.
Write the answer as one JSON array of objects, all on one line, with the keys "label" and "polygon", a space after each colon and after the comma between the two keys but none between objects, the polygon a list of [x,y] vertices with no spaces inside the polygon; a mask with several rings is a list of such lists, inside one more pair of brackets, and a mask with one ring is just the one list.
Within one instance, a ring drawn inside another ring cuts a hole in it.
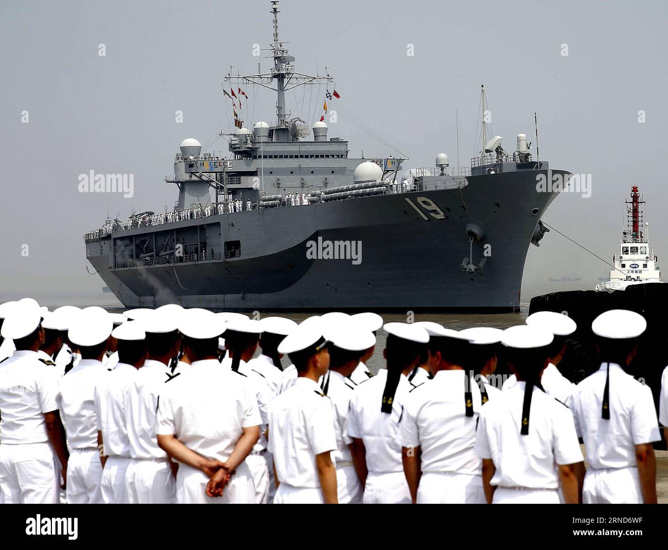
[{"label": "row of sailors in white uniforms and caps along the foreground", "polygon": [[[651,389],[626,371],[646,328],[634,312],[596,318],[601,368],[576,386],[557,368],[576,326],[552,312],[458,332],[373,313],[297,325],[174,304],[45,312],[24,298],[0,318],[16,348],[0,363],[7,503],[55,502],[57,478],[70,503],[657,500]],[[387,368],[371,376],[381,326]],[[514,372],[502,390],[488,383],[498,353]]]}]

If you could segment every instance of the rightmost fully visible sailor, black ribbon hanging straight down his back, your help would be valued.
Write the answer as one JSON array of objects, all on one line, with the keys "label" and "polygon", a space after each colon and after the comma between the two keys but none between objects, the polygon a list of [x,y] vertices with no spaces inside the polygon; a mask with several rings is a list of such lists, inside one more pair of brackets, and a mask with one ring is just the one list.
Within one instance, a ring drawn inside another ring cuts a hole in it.
[{"label": "rightmost fully visible sailor, black ribbon hanging straight down his back", "polygon": [[652,443],[661,436],[652,390],[627,372],[645,328],[645,318],[628,310],[607,311],[591,324],[601,368],[576,386],[572,399],[589,463],[585,504],[657,502]]}]

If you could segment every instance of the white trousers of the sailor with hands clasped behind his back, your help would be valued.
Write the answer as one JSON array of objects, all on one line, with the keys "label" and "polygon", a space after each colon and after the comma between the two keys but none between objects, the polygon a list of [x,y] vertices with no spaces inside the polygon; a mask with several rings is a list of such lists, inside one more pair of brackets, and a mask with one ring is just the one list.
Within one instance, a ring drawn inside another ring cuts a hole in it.
[{"label": "white trousers of the sailor with hands clasped behind his back", "polygon": [[242,462],[225,485],[222,497],[207,497],[206,484],[209,479],[199,470],[178,465],[176,474],[177,504],[253,504],[255,503],[255,485],[248,465]]}]

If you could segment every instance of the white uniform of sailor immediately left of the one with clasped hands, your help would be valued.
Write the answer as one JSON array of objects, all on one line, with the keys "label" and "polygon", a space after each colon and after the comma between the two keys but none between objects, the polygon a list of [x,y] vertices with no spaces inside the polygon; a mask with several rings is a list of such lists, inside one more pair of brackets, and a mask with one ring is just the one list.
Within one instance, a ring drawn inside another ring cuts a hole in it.
[{"label": "white uniform of sailor immediately left of the one with clasped hands", "polygon": [[156,437],[158,396],[168,380],[166,364],[147,359],[138,370],[125,396],[128,419],[130,504],[172,504],[176,501],[176,480],[170,459]]}]

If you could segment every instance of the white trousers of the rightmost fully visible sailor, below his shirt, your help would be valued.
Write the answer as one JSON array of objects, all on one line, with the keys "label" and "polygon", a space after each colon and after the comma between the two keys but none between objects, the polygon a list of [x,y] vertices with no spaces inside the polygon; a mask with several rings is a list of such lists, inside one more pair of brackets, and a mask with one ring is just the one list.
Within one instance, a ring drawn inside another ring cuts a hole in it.
[{"label": "white trousers of the rightmost fully visible sailor, below his shirt", "polygon": [[590,468],[582,487],[583,504],[642,504],[637,467]]}]

